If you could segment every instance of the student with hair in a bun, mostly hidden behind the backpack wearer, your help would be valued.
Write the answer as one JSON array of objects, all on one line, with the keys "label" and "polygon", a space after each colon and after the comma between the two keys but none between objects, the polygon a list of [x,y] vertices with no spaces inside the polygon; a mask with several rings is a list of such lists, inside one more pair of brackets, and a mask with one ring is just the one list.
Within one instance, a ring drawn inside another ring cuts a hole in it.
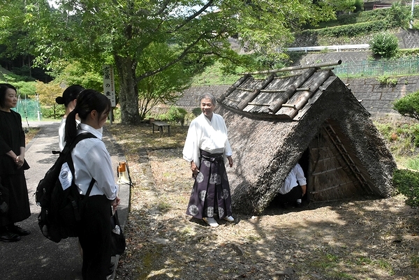
[{"label": "student with hair in a bun, mostly hidden behind the backpack wearer", "polygon": [[[83,89],[84,87],[78,84],[73,84],[70,87],[67,87],[66,90],[64,90],[63,96],[58,96],[57,98],[55,98],[55,102],[57,102],[57,104],[64,104],[64,107],[66,108],[66,112],[64,113],[64,116],[62,117],[61,123],[59,124],[58,128],[58,144],[60,152],[64,149],[64,146],[66,145],[66,142],[64,141],[64,136],[66,133],[65,129],[67,116],[68,114],[70,114],[71,111],[74,110],[77,96]],[[80,121],[77,120],[77,123],[80,124]]]}]

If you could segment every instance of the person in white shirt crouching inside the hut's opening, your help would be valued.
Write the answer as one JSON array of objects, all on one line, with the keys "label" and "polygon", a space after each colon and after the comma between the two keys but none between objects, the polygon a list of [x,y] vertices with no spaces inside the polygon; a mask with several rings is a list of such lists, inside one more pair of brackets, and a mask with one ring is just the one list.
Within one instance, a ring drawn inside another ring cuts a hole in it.
[{"label": "person in white shirt crouching inside the hut's opening", "polygon": [[288,173],[285,178],[284,186],[281,186],[277,195],[277,201],[281,207],[288,207],[294,204],[295,207],[302,206],[302,197],[307,191],[307,180],[304,177],[304,171],[299,163]]}]

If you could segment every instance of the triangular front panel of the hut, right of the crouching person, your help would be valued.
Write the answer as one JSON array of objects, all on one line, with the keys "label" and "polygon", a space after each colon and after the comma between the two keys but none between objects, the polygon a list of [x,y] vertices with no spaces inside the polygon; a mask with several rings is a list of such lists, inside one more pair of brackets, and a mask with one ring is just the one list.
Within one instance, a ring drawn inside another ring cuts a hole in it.
[{"label": "triangular front panel of the hut, right of the crouching person", "polygon": [[364,168],[353,158],[351,145],[339,126],[326,121],[308,149],[308,200],[333,201],[365,195],[369,188],[365,188]]}]

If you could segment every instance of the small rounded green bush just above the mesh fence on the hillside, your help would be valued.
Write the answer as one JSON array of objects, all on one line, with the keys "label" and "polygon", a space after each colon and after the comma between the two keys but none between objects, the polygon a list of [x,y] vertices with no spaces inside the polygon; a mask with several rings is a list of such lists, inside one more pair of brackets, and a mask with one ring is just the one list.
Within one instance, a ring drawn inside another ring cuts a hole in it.
[{"label": "small rounded green bush just above the mesh fence on the hillside", "polygon": [[393,34],[381,32],[376,34],[369,42],[371,50],[374,54],[381,57],[394,57],[399,49],[399,40]]}]

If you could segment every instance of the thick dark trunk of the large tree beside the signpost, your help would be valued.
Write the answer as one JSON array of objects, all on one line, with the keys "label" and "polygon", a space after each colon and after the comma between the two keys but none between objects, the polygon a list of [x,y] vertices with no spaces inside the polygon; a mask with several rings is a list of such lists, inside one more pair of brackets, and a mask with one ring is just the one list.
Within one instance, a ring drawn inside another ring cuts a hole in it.
[{"label": "thick dark trunk of the large tree beside the signpost", "polygon": [[139,124],[138,90],[135,84],[135,68],[131,57],[115,55],[115,66],[119,77],[119,105],[122,124]]}]

